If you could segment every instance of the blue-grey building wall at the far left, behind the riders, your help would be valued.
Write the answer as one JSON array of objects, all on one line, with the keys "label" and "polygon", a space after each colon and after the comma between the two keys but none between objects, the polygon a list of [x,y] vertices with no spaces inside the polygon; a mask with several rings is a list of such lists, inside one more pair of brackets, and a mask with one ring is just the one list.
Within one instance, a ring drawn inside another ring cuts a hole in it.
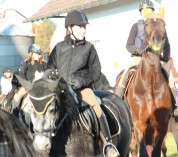
[{"label": "blue-grey building wall at the far left, behind the riders", "polygon": [[28,53],[28,47],[34,41],[33,37],[1,36],[0,37],[0,76],[5,66],[16,71],[22,59]]}]

